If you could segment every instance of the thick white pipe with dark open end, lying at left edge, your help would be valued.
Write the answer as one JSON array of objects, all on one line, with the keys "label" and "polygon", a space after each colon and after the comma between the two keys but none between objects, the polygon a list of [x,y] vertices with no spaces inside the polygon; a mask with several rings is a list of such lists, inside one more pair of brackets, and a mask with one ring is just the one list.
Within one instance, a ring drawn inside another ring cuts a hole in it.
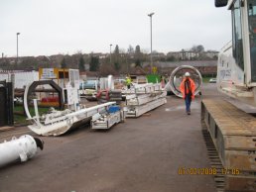
[{"label": "thick white pipe with dark open end, lying at left edge", "polygon": [[35,156],[37,147],[43,149],[44,142],[29,135],[0,144],[0,167],[16,160],[27,161]]}]

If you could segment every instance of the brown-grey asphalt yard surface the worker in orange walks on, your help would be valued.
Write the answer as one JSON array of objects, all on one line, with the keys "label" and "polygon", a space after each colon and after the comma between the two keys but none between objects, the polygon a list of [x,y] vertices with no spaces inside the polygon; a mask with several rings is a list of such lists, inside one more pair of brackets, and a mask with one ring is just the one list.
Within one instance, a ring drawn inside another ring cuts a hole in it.
[{"label": "brown-grey asphalt yard surface the worker in orange walks on", "polygon": [[[205,85],[204,98],[218,97]],[[80,128],[63,137],[41,137],[43,151],[0,169],[2,192],[214,192],[212,175],[180,175],[178,169],[209,167],[200,127],[200,98],[185,113],[184,100],[168,103],[109,131]],[[0,142],[31,134],[0,133]]]}]

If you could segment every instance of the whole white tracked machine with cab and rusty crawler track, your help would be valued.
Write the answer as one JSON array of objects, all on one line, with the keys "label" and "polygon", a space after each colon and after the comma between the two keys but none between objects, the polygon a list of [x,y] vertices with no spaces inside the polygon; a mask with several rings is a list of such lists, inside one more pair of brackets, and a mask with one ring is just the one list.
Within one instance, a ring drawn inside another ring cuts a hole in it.
[{"label": "whole white tracked machine with cab and rusty crawler track", "polygon": [[[218,90],[256,106],[256,0],[215,0],[232,15],[217,63]],[[218,191],[256,191],[256,118],[225,100],[203,100],[201,125]]]}]

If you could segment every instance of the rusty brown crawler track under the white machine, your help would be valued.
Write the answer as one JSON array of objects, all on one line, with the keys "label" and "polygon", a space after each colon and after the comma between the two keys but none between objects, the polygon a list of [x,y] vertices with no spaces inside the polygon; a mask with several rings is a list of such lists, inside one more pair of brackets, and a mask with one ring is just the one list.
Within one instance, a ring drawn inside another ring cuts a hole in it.
[{"label": "rusty brown crawler track under the white machine", "polygon": [[201,102],[201,127],[217,191],[256,191],[256,118],[224,100]]}]

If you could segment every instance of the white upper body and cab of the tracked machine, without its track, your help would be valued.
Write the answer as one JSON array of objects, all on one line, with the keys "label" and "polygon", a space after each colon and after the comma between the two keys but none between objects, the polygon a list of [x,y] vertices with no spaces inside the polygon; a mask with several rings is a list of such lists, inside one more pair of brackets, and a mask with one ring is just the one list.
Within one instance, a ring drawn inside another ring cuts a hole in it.
[{"label": "white upper body and cab of the tracked machine, without its track", "polygon": [[228,6],[232,19],[232,41],[218,56],[218,89],[256,106],[256,0],[215,0]]}]

